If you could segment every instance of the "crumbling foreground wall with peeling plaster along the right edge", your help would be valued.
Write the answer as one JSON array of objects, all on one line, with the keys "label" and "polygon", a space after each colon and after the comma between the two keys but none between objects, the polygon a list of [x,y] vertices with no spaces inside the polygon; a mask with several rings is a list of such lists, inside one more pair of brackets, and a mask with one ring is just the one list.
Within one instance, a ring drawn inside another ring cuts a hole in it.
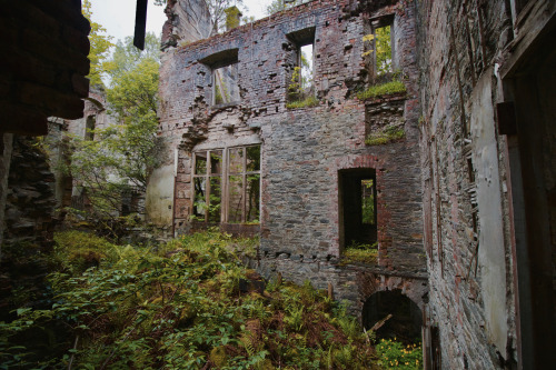
[{"label": "crumbling foreground wall with peeling plaster along the right edge", "polygon": [[[540,349],[546,341],[554,343],[554,336],[546,329],[544,339],[534,343],[532,287],[523,271],[517,273],[519,266],[529,266],[527,248],[544,250],[549,264],[550,247],[540,240],[527,247],[527,237],[519,234],[525,216],[518,213],[522,194],[516,187],[522,170],[512,152],[517,138],[507,129],[507,116],[499,116],[499,103],[506,101],[508,89],[508,74],[500,71],[515,68],[519,49],[534,44],[535,34],[547,32],[547,18],[554,22],[555,7],[550,1],[529,1],[517,17],[515,4],[423,1],[418,8],[424,240],[431,323],[439,328],[443,368],[542,369],[543,363],[552,363],[546,361],[549,350]],[[524,59],[520,63],[526,64]],[[527,68],[525,73],[530,73]],[[546,88],[535,89],[553,96]],[[512,116],[515,112],[509,121]],[[530,126],[525,130],[532,132]],[[526,138],[519,134],[520,150]],[[550,171],[545,167],[545,173]],[[523,179],[527,178],[532,177],[524,172]],[[538,219],[546,222],[548,217]],[[525,243],[523,252],[516,240]],[[529,269],[525,268],[527,273],[542,274]],[[553,276],[544,274],[539,284],[549,286]],[[554,312],[554,303],[540,298],[550,296],[549,291],[545,289],[535,303],[544,312],[545,328],[554,328],[548,313]],[[536,352],[535,346],[539,346]]]}]

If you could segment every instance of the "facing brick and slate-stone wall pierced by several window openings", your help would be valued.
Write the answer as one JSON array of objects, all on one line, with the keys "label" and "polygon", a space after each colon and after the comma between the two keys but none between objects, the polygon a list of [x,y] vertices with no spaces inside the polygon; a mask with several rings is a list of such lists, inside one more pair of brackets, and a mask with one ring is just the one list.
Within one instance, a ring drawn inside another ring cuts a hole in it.
[{"label": "facing brick and slate-stone wall pierced by several window openings", "polygon": [[[330,282],[339,299],[354,303],[354,313],[360,313],[371,293],[398,288],[423,308],[427,272],[421,241],[414,7],[410,1],[390,1],[369,13],[358,1],[312,1],[206,41],[169,49],[160,70],[160,133],[170,148],[179,150],[178,230],[190,228],[191,151],[260,142],[259,269],[266,276],[280,272],[297,282],[309,279],[321,289]],[[408,93],[391,101],[361,102],[355,98],[368,74],[361,38],[368,33],[369,17],[386,14],[395,14],[397,64]],[[320,103],[288,110],[295,48],[287,34],[311,28]],[[238,50],[241,101],[210,107],[211,70],[200,60],[230,49]],[[383,121],[403,122],[406,137],[366,146],[365,136],[373,130],[366,121],[374,110],[394,112]],[[353,168],[377,172],[377,266],[339,263],[338,171]]]}]

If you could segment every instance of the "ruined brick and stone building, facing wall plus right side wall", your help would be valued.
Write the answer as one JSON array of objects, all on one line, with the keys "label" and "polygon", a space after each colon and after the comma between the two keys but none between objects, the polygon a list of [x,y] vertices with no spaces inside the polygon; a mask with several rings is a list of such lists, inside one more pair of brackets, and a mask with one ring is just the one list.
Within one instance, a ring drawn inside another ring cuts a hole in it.
[{"label": "ruined brick and stone building, facing wall plus right side wall", "polygon": [[[429,368],[554,363],[555,1],[311,1],[189,43],[185,2],[152,221],[260,234],[265,276],[330,284],[366,326],[399,309]],[[307,46],[314,102],[296,104]],[[360,93],[388,78],[405,88]],[[375,261],[344,258],[374,242]]]}]

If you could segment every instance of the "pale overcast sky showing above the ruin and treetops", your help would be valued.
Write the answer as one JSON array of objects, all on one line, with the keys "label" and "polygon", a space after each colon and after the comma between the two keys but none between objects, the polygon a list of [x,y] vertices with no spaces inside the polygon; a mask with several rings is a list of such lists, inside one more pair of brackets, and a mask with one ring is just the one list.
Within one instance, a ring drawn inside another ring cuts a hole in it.
[{"label": "pale overcast sky showing above the ruin and treetops", "polygon": [[[244,0],[248,8],[247,14],[256,19],[265,17],[267,6],[271,0]],[[92,19],[107,29],[107,33],[113,37],[113,42],[133,34],[137,0],[91,0]],[[163,7],[156,7],[153,0],[149,0],[147,10],[147,31],[160,36],[162,24],[166,21]]]}]

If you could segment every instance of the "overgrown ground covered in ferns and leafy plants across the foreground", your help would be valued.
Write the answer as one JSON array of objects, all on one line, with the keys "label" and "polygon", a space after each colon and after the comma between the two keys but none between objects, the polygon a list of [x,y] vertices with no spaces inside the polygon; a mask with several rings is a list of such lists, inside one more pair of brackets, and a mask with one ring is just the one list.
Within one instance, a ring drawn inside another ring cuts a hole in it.
[{"label": "overgrown ground covered in ferns and leafy plants across the foreground", "polygon": [[309,282],[244,267],[254,239],[216,231],[157,247],[58,233],[49,309],[0,322],[0,369],[420,369]]}]

